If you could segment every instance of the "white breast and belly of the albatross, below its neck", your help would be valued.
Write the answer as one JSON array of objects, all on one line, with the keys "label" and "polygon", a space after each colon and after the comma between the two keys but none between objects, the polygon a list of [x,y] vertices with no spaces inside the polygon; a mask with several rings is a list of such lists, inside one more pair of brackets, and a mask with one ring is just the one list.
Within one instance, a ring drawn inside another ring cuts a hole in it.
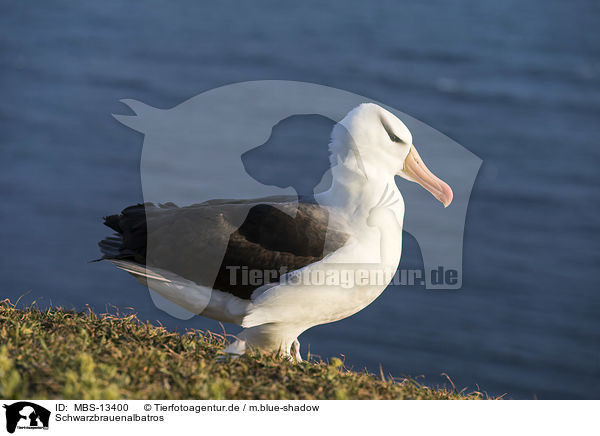
[{"label": "white breast and belly of the albatross, below its neck", "polygon": [[[399,194],[399,193],[398,193]],[[291,323],[303,329],[359,312],[387,287],[402,252],[404,206],[372,208],[355,219],[348,242],[320,262],[257,289],[243,326]],[[367,224],[367,218],[371,218]]]}]

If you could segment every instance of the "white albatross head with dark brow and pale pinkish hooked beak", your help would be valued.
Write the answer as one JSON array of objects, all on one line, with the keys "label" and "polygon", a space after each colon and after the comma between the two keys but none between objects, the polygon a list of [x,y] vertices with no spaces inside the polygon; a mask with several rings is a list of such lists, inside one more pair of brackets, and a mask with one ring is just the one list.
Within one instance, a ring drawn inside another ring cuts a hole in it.
[{"label": "white albatross head with dark brow and pale pinkish hooked beak", "polygon": [[353,151],[356,166],[367,178],[398,175],[416,182],[447,207],[452,189],[436,177],[419,156],[410,130],[391,112],[373,103],[351,110],[332,132],[333,154],[342,144]]}]

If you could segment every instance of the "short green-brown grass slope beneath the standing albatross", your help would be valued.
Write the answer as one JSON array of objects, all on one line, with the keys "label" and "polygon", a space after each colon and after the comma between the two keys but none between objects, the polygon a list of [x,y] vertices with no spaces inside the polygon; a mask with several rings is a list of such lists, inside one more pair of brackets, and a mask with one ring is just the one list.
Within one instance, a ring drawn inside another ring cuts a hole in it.
[{"label": "short green-brown grass slope beneath the standing albatross", "polygon": [[170,332],[133,314],[0,302],[0,397],[10,399],[481,399],[252,351],[218,360],[226,339]]}]

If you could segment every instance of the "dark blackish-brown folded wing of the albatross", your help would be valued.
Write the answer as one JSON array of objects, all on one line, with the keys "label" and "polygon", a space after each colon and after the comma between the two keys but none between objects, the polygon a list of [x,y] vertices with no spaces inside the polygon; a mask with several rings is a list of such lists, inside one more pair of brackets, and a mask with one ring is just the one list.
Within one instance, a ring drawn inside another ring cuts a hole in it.
[{"label": "dark blackish-brown folded wing of the albatross", "polygon": [[117,234],[99,245],[104,259],[158,267],[250,299],[257,287],[321,260],[348,239],[346,233],[328,228],[329,212],[318,204],[297,203],[295,217],[283,212],[295,210],[294,200],[131,206],[105,219]]}]

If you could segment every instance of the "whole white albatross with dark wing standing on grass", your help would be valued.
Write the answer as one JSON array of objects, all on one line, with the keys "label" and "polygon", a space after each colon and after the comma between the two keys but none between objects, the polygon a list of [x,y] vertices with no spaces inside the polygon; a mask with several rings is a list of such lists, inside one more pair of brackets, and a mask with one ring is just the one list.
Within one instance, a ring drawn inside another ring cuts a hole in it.
[{"label": "whole white albatross with dark wing standing on grass", "polygon": [[[242,326],[226,353],[258,347],[301,360],[302,332],[362,310],[396,271],[404,201],[394,176],[419,183],[444,206],[452,201],[408,128],[378,105],[351,110],[334,126],[329,150],[331,187],[315,201],[131,206],[105,218],[116,234],[99,243],[103,259],[190,312]],[[240,208],[247,217],[236,227]],[[218,272],[207,271],[210,247],[224,238]],[[275,273],[249,283],[240,275],[249,271]]]}]

